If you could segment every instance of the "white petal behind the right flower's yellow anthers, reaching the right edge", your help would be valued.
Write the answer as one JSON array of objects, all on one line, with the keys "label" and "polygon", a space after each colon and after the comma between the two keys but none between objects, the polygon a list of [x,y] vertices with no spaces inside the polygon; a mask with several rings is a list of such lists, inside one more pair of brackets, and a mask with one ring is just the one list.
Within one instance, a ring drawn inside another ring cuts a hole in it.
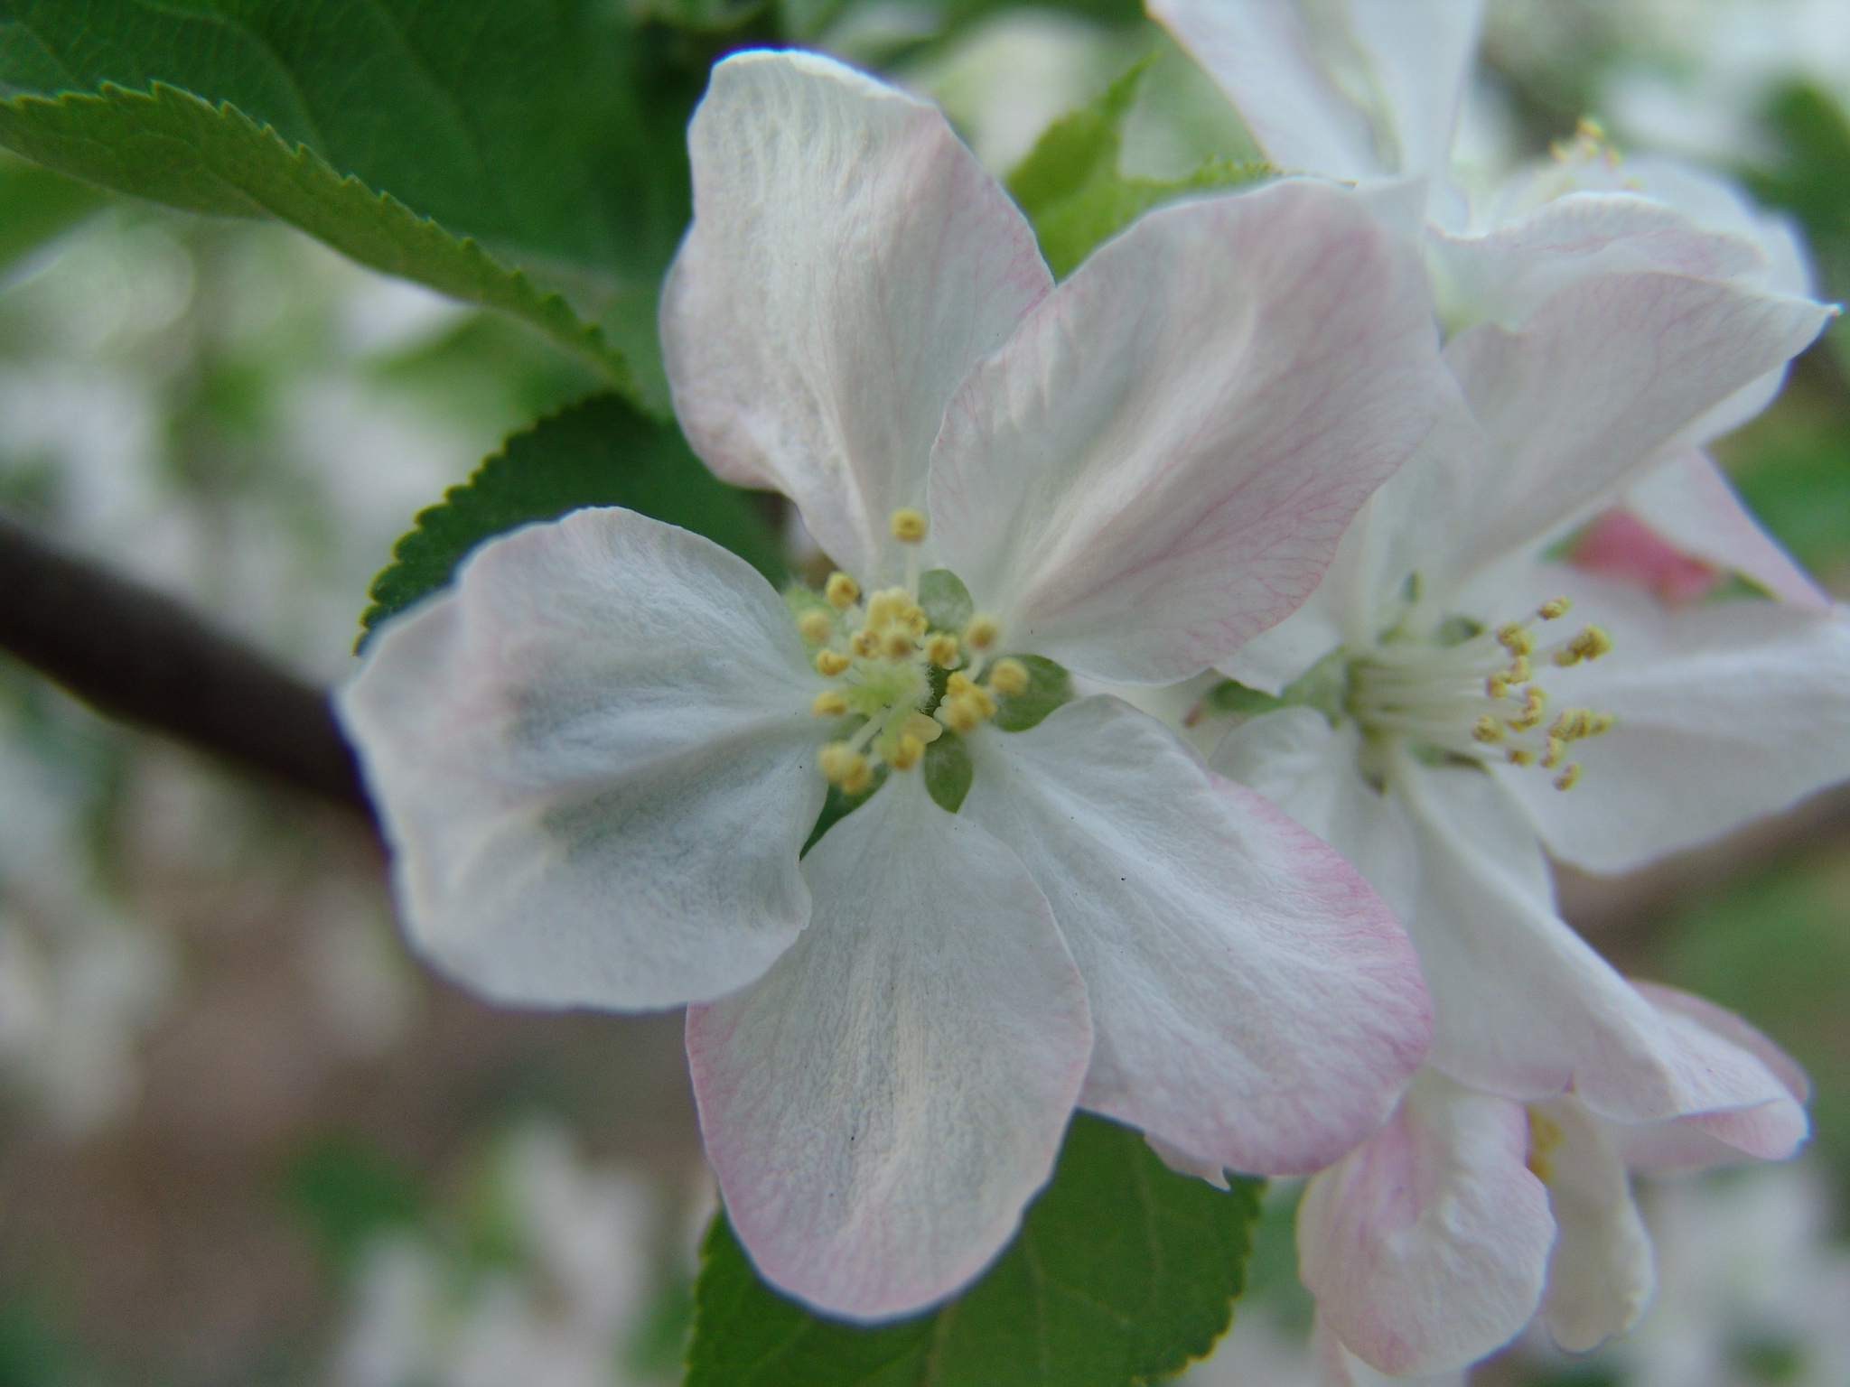
[{"label": "white petal behind the right flower's yellow anthers, reaching the right edge", "polygon": [[1548,851],[1628,871],[1850,779],[1850,612],[1770,601],[1665,608],[1634,588],[1543,564],[1532,592],[1567,595],[1613,651],[1537,677],[1552,706],[1611,712],[1576,742],[1569,793],[1497,767]]}]

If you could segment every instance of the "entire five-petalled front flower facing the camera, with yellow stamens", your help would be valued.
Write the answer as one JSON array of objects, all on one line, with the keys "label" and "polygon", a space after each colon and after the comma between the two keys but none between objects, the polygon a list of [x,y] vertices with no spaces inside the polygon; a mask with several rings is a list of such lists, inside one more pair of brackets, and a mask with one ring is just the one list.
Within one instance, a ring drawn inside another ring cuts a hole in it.
[{"label": "entire five-petalled front flower facing the camera, with yellow stamens", "polygon": [[[975,1276],[1075,1102],[1238,1169],[1334,1160],[1428,1036],[1378,899],[1114,699],[992,718],[1030,655],[1162,682],[1291,610],[1443,398],[1417,263],[1291,183],[1056,288],[942,115],[803,54],[716,67],[690,148],[675,411],[844,571],[792,616],[581,510],[392,623],[344,718],[413,938],[511,1002],[692,1002],[733,1224],[849,1317]],[[818,771],[879,788],[799,862]]]}]

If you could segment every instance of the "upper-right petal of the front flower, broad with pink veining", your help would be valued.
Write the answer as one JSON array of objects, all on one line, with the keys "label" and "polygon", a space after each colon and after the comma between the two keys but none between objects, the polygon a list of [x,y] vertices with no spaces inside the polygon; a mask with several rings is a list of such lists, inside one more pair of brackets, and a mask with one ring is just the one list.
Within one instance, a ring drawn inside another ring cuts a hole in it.
[{"label": "upper-right petal of the front flower, broad with pink veining", "polygon": [[1005,642],[1175,682],[1310,594],[1449,388],[1424,272],[1352,194],[1169,207],[964,381],[932,449],[938,551]]}]

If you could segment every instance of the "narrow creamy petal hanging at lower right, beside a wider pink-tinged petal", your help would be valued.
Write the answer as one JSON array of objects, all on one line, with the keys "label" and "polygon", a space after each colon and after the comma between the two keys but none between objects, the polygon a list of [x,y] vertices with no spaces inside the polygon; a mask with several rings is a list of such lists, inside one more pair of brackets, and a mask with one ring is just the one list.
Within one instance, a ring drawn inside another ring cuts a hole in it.
[{"label": "narrow creamy petal hanging at lower right, beside a wider pink-tinged petal", "polygon": [[1571,1354],[1637,1324],[1658,1289],[1650,1235],[1632,1202],[1624,1163],[1572,1099],[1536,1104],[1537,1165],[1561,1230],[1548,1258],[1541,1313]]}]

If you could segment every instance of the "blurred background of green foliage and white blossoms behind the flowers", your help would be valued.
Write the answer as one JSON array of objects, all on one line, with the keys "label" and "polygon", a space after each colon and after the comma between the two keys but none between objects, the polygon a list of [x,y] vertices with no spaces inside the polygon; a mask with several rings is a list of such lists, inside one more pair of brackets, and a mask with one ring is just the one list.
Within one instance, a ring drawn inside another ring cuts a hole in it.
[{"label": "blurred background of green foliage and white blossoms behind the flowers", "polygon": [[[625,198],[657,213],[592,316],[638,350],[655,403],[681,122],[729,48],[799,41],[884,70],[999,174],[1143,59],[1114,198],[1254,155],[1125,0],[631,0],[609,17],[640,74],[625,120],[648,178],[599,198],[620,222]],[[1802,227],[1820,292],[1850,298],[1841,0],[1493,4],[1467,172],[1545,155],[1587,113],[1621,150],[1728,170]],[[1720,449],[1839,597],[1846,333]],[[355,616],[413,516],[601,385],[555,338],[283,226],[0,161],[0,509],[313,679],[352,669]],[[1739,1010],[1807,1065],[1817,1141],[1789,1167],[1646,1189],[1663,1307],[1589,1359],[1524,1341],[1478,1383],[1850,1383],[1844,821],[1758,830],[1645,884],[1563,882],[1626,971]],[[1665,890],[1680,877],[1700,890]],[[1190,1381],[1314,1381],[1295,1197],[1267,1195],[1254,1289]],[[673,1017],[470,1000],[403,952],[363,829],[0,660],[0,1387],[673,1381],[710,1200]]]}]

